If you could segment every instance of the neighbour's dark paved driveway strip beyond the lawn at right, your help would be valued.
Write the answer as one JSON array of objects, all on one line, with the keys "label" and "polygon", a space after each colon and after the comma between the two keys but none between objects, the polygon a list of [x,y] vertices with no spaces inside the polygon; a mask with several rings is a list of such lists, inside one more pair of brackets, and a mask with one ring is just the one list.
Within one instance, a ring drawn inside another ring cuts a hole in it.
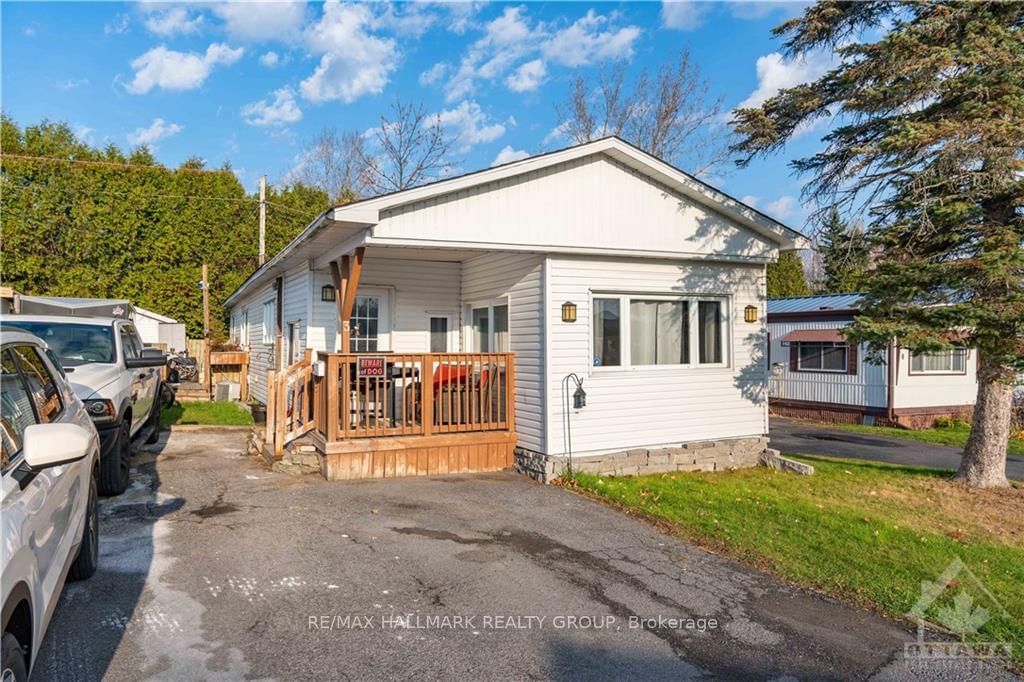
[{"label": "neighbour's dark paved driveway strip beyond the lawn at right", "polygon": [[[771,446],[783,453],[845,457],[891,464],[958,469],[959,447],[933,445],[903,438],[852,433],[820,424],[771,418]],[[1024,457],[1007,458],[1007,476],[1024,480]]]}]

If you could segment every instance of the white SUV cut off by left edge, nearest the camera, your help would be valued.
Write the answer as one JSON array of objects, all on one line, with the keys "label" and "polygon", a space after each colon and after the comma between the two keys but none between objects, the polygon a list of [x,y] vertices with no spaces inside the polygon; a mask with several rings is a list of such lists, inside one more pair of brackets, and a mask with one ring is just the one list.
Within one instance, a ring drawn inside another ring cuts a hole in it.
[{"label": "white SUV cut off by left edge, nearest the camera", "polygon": [[65,580],[99,559],[99,436],[38,338],[0,328],[3,681],[27,680]]}]

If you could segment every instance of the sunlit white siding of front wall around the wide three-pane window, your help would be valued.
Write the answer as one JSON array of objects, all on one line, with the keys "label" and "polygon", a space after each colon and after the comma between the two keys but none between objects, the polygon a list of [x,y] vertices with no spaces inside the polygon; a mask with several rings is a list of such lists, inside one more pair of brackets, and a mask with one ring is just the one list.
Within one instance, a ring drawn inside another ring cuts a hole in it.
[{"label": "sunlit white siding of front wall around the wide three-pane window", "polygon": [[[548,266],[549,455],[566,452],[561,382],[570,372],[587,391],[587,407],[571,412],[573,455],[767,432],[764,266],[590,258],[551,258]],[[729,297],[730,366],[593,368],[592,291]],[[561,322],[564,301],[577,304],[575,323]],[[752,304],[762,323],[743,322],[743,307]]]}]

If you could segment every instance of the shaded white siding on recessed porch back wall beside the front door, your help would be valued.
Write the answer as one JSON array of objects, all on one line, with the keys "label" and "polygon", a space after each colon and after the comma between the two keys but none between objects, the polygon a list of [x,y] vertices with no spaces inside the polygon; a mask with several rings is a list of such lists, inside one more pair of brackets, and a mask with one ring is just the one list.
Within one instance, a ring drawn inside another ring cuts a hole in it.
[{"label": "shaded white siding on recessed porch back wall beside the front door", "polygon": [[[430,350],[430,313],[451,311],[459,323],[461,264],[436,260],[404,260],[381,256],[380,250],[367,249],[357,293],[373,293],[387,298],[390,318],[390,347],[399,353],[425,353]],[[313,280],[313,321],[309,329],[309,347],[337,352],[338,307],[321,300],[321,289],[331,284],[330,272],[316,271]]]}]

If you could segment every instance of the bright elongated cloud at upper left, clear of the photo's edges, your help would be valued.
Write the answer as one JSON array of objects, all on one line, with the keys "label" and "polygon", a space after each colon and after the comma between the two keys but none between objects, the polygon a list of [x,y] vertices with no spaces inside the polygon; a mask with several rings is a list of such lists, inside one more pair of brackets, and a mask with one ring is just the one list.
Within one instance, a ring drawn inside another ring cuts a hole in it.
[{"label": "bright elongated cloud at upper left, clear of the photo's edges", "polygon": [[126,88],[135,94],[145,94],[153,88],[191,90],[203,85],[218,65],[229,66],[242,58],[244,50],[223,43],[213,43],[206,53],[176,52],[163,45],[135,57],[131,68],[135,77]]}]

